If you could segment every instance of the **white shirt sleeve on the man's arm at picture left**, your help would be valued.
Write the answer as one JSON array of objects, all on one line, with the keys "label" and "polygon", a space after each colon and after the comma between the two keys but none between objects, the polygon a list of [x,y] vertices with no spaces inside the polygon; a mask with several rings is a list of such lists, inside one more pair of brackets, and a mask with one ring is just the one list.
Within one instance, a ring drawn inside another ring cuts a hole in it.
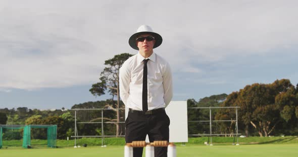
[{"label": "white shirt sleeve on the man's arm at picture left", "polygon": [[123,63],[119,69],[119,92],[120,98],[124,105],[127,105],[127,99],[129,97],[129,83],[130,83],[130,72],[127,64]]}]

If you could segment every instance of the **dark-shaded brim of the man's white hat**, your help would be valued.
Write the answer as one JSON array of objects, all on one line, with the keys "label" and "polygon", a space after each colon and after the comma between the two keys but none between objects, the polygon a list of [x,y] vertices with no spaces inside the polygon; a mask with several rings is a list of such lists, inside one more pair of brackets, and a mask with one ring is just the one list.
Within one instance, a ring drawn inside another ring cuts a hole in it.
[{"label": "dark-shaded brim of the man's white hat", "polygon": [[139,48],[137,47],[136,45],[136,42],[135,42],[135,39],[140,35],[140,34],[151,34],[155,37],[155,44],[153,46],[153,48],[157,48],[159,47],[162,42],[163,42],[163,38],[161,35],[157,34],[157,33],[154,33],[154,32],[137,32],[135,34],[133,34],[129,40],[128,40],[128,43],[130,45],[130,47],[132,47],[133,49],[135,50],[139,50]]}]

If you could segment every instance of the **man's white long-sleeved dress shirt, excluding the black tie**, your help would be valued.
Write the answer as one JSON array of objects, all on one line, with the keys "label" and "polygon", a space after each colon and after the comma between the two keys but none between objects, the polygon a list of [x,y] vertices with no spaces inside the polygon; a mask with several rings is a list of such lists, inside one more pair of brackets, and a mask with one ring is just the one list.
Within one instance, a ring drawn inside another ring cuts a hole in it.
[{"label": "man's white long-sleeved dress shirt, excluding the black tie", "polygon": [[[147,62],[148,111],[166,107],[173,97],[169,63],[153,52]],[[128,108],[142,111],[143,60],[139,53],[128,58],[119,70],[120,98]]]}]

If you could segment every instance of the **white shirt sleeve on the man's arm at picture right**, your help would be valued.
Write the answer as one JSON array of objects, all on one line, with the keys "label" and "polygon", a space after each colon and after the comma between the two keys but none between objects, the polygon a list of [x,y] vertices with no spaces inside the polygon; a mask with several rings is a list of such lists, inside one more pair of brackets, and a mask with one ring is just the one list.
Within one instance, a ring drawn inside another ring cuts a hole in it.
[{"label": "white shirt sleeve on the man's arm at picture right", "polygon": [[172,72],[171,72],[171,67],[169,63],[166,64],[166,68],[163,76],[163,86],[164,86],[164,101],[167,107],[173,97]]}]

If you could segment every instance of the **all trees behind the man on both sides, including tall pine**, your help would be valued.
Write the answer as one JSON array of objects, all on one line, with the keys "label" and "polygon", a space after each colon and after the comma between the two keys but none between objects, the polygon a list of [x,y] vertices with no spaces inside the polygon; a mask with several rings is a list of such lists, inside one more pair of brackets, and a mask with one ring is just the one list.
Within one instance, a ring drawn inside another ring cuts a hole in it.
[{"label": "all trees behind the man on both sides, including tall pine", "polygon": [[[105,135],[124,135],[124,104],[119,97],[119,68],[131,54],[122,53],[105,61],[106,67],[100,73],[99,82],[93,84],[89,92],[96,96],[110,94],[106,101],[76,104],[71,109],[107,108],[104,118],[101,111],[77,111],[77,122],[101,122],[104,120]],[[116,100],[115,100],[116,99]],[[247,85],[229,95],[213,95],[196,102],[187,100],[187,107],[228,107],[239,106],[238,128],[246,136],[294,135],[298,133],[298,85],[294,87],[289,80],[276,80],[272,84]],[[213,120],[231,120],[231,122],[213,122],[213,133],[233,135],[235,132],[235,110],[218,109],[212,111]],[[209,120],[209,110],[188,110],[188,121]],[[26,107],[0,109],[0,124],[56,124],[58,138],[74,135],[74,111],[40,111]],[[101,135],[101,125],[77,125],[80,135]],[[209,133],[209,124],[188,123],[189,134]],[[42,136],[42,135],[40,135]]]}]

